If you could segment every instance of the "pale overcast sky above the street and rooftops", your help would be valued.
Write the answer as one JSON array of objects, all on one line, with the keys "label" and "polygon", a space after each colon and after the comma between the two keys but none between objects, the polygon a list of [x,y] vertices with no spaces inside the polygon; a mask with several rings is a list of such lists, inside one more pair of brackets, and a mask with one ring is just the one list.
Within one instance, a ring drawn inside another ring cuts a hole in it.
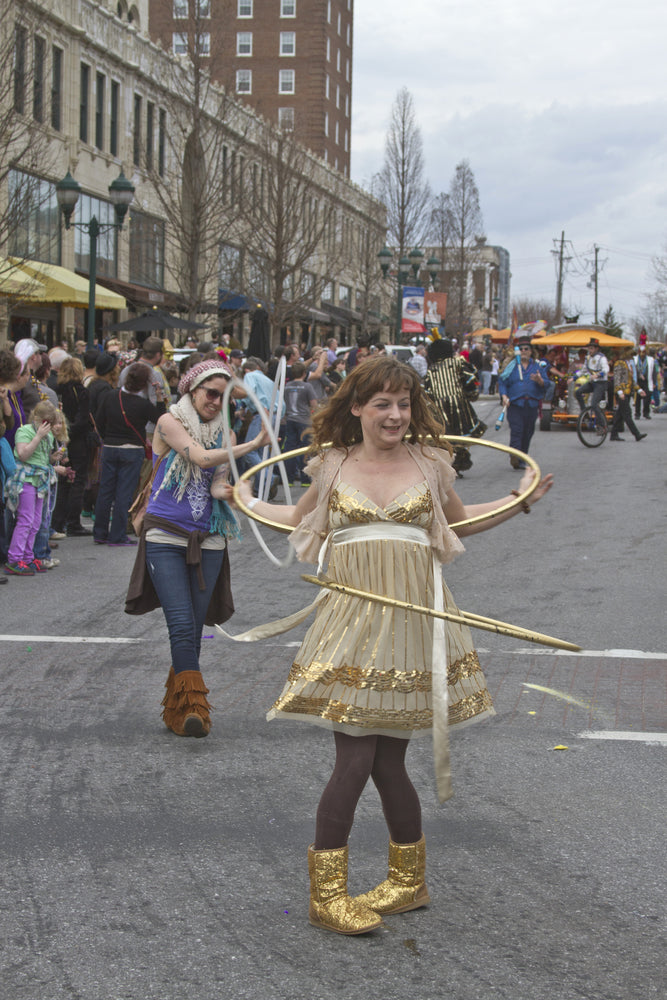
[{"label": "pale overcast sky above the street and rooftops", "polygon": [[426,175],[447,191],[467,159],[512,296],[555,299],[551,250],[572,257],[566,311],[629,320],[667,254],[667,7],[657,0],[355,0],[352,178],[384,155],[407,86]]}]

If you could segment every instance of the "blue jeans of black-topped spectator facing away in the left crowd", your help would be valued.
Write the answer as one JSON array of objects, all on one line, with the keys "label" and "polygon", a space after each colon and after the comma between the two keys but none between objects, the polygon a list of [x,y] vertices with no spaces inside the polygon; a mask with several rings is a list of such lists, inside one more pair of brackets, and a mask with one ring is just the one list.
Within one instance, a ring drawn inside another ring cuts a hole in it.
[{"label": "blue jeans of black-topped spectator facing away in the left crowd", "polygon": [[143,448],[109,448],[107,445],[102,448],[93,526],[93,537],[98,542],[117,544],[127,538],[127,512],[139,482],[143,460]]}]

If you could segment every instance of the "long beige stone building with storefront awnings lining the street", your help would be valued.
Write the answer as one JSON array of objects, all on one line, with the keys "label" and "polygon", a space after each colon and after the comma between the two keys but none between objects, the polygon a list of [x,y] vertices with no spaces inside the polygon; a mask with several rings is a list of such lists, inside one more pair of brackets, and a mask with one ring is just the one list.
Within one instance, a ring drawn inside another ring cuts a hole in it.
[{"label": "long beige stone building with storefront awnings lining the street", "polygon": [[[0,6],[0,131],[11,139],[0,135],[1,258],[87,278],[88,228],[65,229],[56,201],[55,184],[69,170],[82,191],[74,221],[94,216],[102,226],[98,284],[130,313],[161,306],[244,338],[261,301],[274,340],[351,340],[377,323],[380,287],[364,261],[377,269],[383,206],[293,133],[239,104],[203,61],[151,40],[148,0]],[[109,185],[121,170],[135,195],[118,231]],[[276,206],[286,199],[280,218]],[[32,335],[51,346],[83,336],[85,307],[64,295],[39,302],[9,294],[3,273],[2,340]],[[96,334],[126,315],[98,308]]]}]

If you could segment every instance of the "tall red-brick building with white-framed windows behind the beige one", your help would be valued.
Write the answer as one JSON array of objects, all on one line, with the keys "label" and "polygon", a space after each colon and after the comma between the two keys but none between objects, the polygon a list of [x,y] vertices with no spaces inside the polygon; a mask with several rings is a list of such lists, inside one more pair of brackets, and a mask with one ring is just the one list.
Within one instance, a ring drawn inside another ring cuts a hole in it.
[{"label": "tall red-brick building with white-framed windows behind the beige one", "polygon": [[354,0],[149,0],[152,37],[345,177],[350,173]]}]

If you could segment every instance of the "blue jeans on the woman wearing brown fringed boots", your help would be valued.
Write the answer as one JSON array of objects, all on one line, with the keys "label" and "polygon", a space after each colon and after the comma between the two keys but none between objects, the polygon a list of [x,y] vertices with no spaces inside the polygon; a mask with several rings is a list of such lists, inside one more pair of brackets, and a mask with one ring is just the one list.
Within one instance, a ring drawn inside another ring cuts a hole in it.
[{"label": "blue jeans on the woman wearing brown fringed boots", "polygon": [[[97,523],[97,519],[95,521]],[[199,589],[197,567],[188,566],[180,545],[146,542],[146,568],[160,599],[169,631],[174,673],[199,670],[201,633],[224,549],[202,549],[201,568],[206,584]]]}]

